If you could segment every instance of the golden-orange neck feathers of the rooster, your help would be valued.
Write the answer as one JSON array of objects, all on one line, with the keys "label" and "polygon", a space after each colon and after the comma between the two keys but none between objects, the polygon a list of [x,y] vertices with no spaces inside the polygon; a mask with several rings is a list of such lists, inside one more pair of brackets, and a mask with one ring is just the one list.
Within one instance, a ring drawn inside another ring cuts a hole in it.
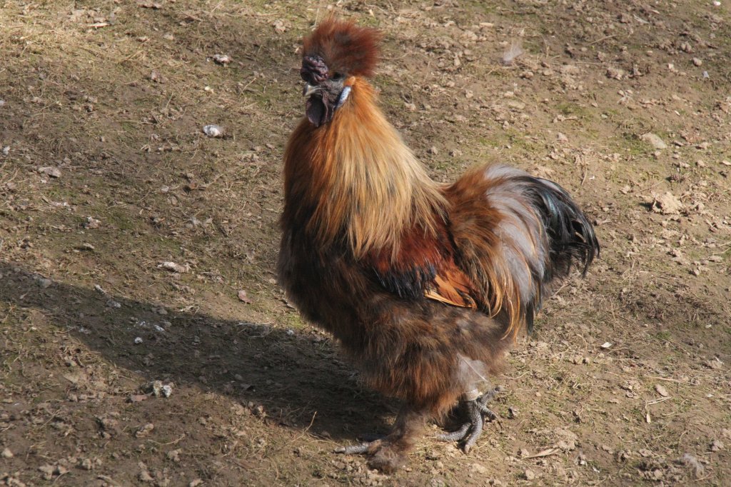
[{"label": "golden-orange neck feathers of the rooster", "polygon": [[312,209],[306,222],[320,243],[344,235],[355,257],[398,252],[414,227],[435,231],[447,202],[376,105],[374,89],[351,78],[349,98],[330,123],[305,119],[284,155],[285,216]]}]

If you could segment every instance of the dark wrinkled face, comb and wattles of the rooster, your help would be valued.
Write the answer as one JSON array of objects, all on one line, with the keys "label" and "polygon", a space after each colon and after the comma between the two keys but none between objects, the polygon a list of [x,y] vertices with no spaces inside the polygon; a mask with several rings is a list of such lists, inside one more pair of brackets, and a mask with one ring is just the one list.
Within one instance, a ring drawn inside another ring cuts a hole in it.
[{"label": "dark wrinkled face, comb and wattles of the rooster", "polygon": [[303,94],[308,97],[305,107],[307,119],[315,127],[327,124],[335,115],[345,76],[330,73],[319,56],[303,58],[300,76],[306,82]]}]

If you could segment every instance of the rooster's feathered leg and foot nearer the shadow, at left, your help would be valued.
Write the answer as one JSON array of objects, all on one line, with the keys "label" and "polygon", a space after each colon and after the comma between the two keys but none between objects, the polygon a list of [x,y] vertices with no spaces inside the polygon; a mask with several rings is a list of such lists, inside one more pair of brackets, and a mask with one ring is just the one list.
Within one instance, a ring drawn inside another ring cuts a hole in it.
[{"label": "rooster's feathered leg and foot nearer the shadow, at left", "polygon": [[336,453],[355,455],[366,453],[368,467],[390,473],[406,464],[406,454],[414,445],[414,437],[423,430],[425,415],[404,406],[398,412],[393,430],[386,437],[360,445],[338,448]]}]

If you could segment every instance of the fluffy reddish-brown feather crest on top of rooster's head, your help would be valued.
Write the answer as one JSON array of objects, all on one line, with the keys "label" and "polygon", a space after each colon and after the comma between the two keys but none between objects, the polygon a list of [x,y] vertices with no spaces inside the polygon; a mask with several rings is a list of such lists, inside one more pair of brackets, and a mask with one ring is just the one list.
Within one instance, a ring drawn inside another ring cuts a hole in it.
[{"label": "fluffy reddish-brown feather crest on top of rooster's head", "polygon": [[378,61],[381,37],[376,29],[330,15],[305,37],[303,57],[319,56],[331,73],[370,77]]}]

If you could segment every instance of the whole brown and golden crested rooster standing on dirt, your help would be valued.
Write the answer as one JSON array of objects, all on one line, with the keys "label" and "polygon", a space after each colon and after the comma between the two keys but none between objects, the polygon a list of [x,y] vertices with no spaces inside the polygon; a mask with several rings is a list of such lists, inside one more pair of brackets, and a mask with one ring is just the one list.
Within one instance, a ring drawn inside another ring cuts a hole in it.
[{"label": "whole brown and golden crested rooster standing on dirt", "polygon": [[279,280],[364,382],[401,401],[387,436],[341,448],[393,472],[429,419],[468,452],[493,419],[487,378],[556,279],[586,274],[594,229],[561,186],[504,165],[437,184],[368,83],[380,34],[328,18],[303,41],[306,117],[284,154]]}]

